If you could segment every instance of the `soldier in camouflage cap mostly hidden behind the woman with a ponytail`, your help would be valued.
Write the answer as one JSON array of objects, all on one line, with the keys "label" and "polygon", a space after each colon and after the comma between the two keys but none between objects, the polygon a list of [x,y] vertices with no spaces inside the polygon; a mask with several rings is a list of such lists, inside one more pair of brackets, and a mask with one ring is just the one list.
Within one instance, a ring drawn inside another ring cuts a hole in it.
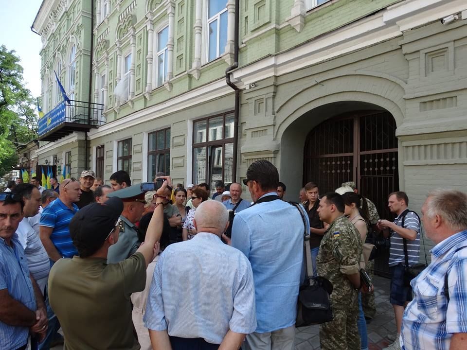
[{"label": "soldier in camouflage cap mostly hidden behind the woman with a ponytail", "polygon": [[[357,190],[357,185],[355,184],[354,181],[348,181],[342,183],[342,186],[349,186],[354,190],[355,193],[358,193],[359,191]],[[365,197],[366,198],[366,197]],[[376,209],[375,204],[366,198],[366,202],[368,205],[368,213],[370,214],[370,231],[369,234],[372,234],[372,232],[375,230],[375,226],[378,223],[379,220],[379,214]],[[360,200],[360,208],[363,206],[363,199]],[[373,277],[375,276],[375,261],[370,260],[366,264],[365,268],[366,272],[370,276],[370,278],[373,280]],[[375,303],[375,291],[372,290],[369,293],[362,293],[361,294],[361,307],[363,309],[363,313],[365,314],[365,318],[372,319],[376,315],[376,303]]]}]

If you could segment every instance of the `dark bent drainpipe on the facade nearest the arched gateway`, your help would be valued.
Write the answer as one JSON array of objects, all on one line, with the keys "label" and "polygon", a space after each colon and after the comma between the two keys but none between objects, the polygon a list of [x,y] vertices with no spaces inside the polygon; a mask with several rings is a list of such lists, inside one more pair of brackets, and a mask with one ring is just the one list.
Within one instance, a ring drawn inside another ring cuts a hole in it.
[{"label": "dark bent drainpipe on the facade nearest the arched gateway", "polygon": [[234,164],[232,169],[232,178],[236,181],[237,175],[237,147],[238,147],[238,120],[240,116],[240,89],[231,81],[230,72],[238,68],[238,31],[240,22],[240,0],[235,0],[235,24],[234,24],[234,64],[225,70],[225,82],[235,90],[234,103]]}]

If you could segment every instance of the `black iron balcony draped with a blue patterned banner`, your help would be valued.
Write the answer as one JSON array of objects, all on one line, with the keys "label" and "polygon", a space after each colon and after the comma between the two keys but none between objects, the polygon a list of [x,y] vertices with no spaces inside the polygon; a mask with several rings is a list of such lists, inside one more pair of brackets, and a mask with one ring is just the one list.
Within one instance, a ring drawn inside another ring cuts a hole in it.
[{"label": "black iron balcony draped with a blue patterned banner", "polygon": [[56,141],[73,131],[85,131],[106,123],[104,105],[70,100],[60,102],[50,112],[39,119],[41,141]]}]

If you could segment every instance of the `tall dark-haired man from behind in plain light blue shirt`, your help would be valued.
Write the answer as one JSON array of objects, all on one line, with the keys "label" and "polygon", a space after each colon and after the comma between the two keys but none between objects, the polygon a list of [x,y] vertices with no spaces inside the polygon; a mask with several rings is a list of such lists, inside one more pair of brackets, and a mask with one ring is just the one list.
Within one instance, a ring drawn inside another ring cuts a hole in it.
[{"label": "tall dark-haired man from behind in plain light blue shirt", "polygon": [[255,203],[235,215],[232,246],[250,260],[258,322],[244,349],[291,350],[309,224],[304,227],[297,208],[277,196],[279,174],[269,161],[252,163],[244,183]]}]

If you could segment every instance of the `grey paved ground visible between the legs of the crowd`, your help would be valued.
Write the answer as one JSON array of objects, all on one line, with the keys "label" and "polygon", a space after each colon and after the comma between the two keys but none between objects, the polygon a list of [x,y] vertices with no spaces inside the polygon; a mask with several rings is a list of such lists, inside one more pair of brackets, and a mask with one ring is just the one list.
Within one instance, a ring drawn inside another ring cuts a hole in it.
[{"label": "grey paved ground visible between the legs of the crowd", "polygon": [[[382,350],[394,342],[395,321],[393,307],[389,303],[390,280],[375,276],[376,316],[367,323],[369,350]],[[295,350],[319,350],[320,327],[309,326],[295,329]],[[391,339],[388,339],[389,338]],[[56,346],[51,350],[63,350],[63,346]]]}]

